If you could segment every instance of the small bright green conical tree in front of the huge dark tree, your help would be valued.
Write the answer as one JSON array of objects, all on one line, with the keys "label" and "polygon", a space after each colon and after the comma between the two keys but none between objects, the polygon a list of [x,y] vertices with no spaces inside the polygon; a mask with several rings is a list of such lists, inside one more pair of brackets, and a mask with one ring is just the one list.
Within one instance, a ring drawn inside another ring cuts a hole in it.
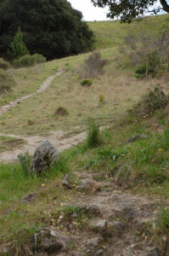
[{"label": "small bright green conical tree in front of the huge dark tree", "polygon": [[14,57],[14,59],[19,59],[21,56],[29,54],[23,40],[22,32],[20,31],[20,27],[14,36],[13,42],[9,44],[9,53]]}]

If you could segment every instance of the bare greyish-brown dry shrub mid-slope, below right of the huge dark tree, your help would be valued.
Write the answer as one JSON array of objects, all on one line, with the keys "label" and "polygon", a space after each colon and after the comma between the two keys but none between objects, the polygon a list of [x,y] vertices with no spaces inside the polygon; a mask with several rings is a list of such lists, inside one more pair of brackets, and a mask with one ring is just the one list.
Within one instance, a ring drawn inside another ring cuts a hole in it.
[{"label": "bare greyish-brown dry shrub mid-slope, below right of the huge dark tree", "polygon": [[95,77],[104,73],[104,66],[107,63],[106,59],[101,58],[99,51],[93,52],[89,55],[87,60],[84,61],[80,70],[80,77],[82,79],[94,79]]}]

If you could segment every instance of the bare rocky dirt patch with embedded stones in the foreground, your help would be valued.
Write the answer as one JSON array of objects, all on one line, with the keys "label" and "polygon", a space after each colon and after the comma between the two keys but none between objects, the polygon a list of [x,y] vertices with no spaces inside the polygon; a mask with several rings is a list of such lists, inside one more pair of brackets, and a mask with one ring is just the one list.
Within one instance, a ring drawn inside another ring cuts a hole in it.
[{"label": "bare rocky dirt patch with embedded stones in the foreground", "polygon": [[[108,177],[102,182],[95,177],[96,173],[76,173],[76,185],[65,177],[62,185],[69,201],[61,202],[58,212],[48,209],[46,217],[44,213],[46,227],[30,241],[30,251],[38,256],[164,255],[154,237],[164,202],[123,191]],[[31,200],[36,197],[25,198]]]}]

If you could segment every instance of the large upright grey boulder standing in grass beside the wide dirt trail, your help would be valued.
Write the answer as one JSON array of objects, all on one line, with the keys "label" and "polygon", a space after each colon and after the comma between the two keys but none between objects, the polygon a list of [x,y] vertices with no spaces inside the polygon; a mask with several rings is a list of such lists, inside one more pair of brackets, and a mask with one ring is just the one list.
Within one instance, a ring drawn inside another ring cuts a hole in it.
[{"label": "large upright grey boulder standing in grass beside the wide dirt trail", "polygon": [[50,166],[53,162],[59,161],[59,151],[48,140],[40,144],[31,160],[31,173],[39,173],[45,171],[46,166]]}]

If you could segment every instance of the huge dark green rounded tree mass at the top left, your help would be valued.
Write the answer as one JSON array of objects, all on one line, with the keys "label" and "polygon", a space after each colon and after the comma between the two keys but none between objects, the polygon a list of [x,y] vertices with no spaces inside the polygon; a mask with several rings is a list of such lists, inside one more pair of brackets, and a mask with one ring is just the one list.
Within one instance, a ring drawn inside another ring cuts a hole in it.
[{"label": "huge dark green rounded tree mass at the top left", "polygon": [[82,13],[66,0],[5,0],[0,5],[0,52],[5,52],[18,27],[31,54],[48,59],[93,49],[93,32]]}]

